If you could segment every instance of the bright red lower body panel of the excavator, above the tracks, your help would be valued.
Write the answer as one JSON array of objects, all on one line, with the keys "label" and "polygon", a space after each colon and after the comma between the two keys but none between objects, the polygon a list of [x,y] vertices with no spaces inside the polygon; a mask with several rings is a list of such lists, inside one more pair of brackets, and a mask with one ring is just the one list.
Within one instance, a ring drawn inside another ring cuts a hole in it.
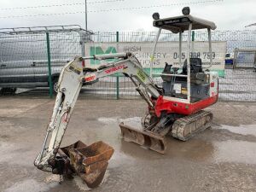
[{"label": "bright red lower body panel of the excavator, above the tracks", "polygon": [[218,95],[210,96],[204,100],[192,103],[184,103],[184,102],[173,102],[163,98],[163,96],[159,96],[154,112],[157,117],[160,117],[162,111],[166,111],[166,113],[179,113],[184,115],[189,115],[192,113],[196,113],[203,108],[207,108],[217,102]]}]

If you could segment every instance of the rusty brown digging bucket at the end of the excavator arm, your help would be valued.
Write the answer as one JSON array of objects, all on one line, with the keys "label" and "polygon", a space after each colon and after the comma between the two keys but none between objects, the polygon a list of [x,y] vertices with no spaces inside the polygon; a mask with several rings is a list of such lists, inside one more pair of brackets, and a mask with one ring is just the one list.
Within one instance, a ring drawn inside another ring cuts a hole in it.
[{"label": "rusty brown digging bucket at the end of the excavator arm", "polygon": [[69,158],[70,169],[81,177],[90,188],[96,188],[105,175],[113,148],[97,142],[86,146],[82,142],[61,148]]}]

